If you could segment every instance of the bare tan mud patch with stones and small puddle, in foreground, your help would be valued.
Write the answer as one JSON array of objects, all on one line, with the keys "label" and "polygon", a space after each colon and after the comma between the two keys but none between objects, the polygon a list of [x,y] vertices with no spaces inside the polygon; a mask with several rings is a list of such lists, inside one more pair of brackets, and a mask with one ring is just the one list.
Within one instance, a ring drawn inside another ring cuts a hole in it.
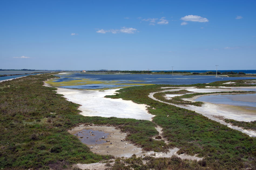
[{"label": "bare tan mud patch with stones and small puddle, in foreground", "polygon": [[69,132],[77,136],[81,142],[96,154],[130,157],[133,154],[142,152],[141,148],[125,141],[126,133],[122,133],[115,127],[80,125],[69,130]]}]

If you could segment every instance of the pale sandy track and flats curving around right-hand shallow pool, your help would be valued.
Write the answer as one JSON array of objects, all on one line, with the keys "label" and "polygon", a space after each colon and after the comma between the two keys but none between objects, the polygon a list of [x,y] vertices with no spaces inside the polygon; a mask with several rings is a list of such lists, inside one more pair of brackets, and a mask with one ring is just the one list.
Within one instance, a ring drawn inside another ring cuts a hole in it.
[{"label": "pale sandy track and flats curving around right-hand shallow pool", "polygon": [[[219,91],[243,91],[242,89],[245,89],[245,88],[255,89],[256,87],[241,87],[241,88],[226,87],[224,89],[196,89],[194,87],[181,87],[179,89],[163,90],[163,91],[178,91],[181,89],[185,89],[185,90],[193,91],[197,93],[208,93],[208,92],[219,92]],[[153,97],[153,94],[155,93],[150,93],[149,97],[154,100],[157,100],[156,98]],[[174,96],[172,95],[172,97]],[[184,100],[194,101],[194,99],[196,99],[197,97],[200,97],[200,96],[195,96],[194,98],[190,98],[190,99],[186,98]],[[157,100],[157,101],[160,101],[160,100]],[[163,102],[163,101],[160,101],[160,102]],[[167,103],[167,102],[163,102],[163,103]],[[167,103],[167,104],[171,104],[171,103]],[[256,131],[244,130],[240,127],[232,126],[231,124],[225,123],[222,120],[224,117],[224,118],[234,119],[238,121],[254,121],[256,120],[256,114],[254,113],[254,111],[248,112],[247,110],[243,109],[243,107],[230,106],[230,105],[224,105],[224,104],[213,104],[213,103],[205,103],[203,104],[202,107],[197,107],[192,105],[186,105],[186,106],[181,106],[176,104],[171,104],[171,105],[196,111],[197,113],[201,113],[202,115],[214,121],[217,121],[221,124],[227,125],[230,128],[239,130],[243,133],[248,134],[251,137],[256,137]]]}]

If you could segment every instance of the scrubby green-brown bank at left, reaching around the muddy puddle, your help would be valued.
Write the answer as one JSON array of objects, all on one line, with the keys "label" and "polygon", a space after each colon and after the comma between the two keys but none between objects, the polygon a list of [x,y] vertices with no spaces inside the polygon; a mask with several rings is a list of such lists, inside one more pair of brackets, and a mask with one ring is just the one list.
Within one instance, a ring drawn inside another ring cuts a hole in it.
[{"label": "scrubby green-brown bank at left, reaching around the muddy puddle", "polygon": [[0,84],[0,168],[65,169],[113,158],[93,154],[67,132],[81,123],[116,126],[144,150],[166,149],[163,141],[151,139],[158,132],[150,121],[79,115],[78,104],[56,94],[56,88],[42,86],[51,78],[35,75]]}]

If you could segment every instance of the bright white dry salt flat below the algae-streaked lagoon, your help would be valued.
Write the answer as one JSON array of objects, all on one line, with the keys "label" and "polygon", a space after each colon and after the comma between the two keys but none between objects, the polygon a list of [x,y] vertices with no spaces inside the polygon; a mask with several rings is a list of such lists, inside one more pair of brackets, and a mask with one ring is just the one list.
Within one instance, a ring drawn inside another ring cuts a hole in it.
[{"label": "bright white dry salt flat below the algae-streaked lagoon", "polygon": [[122,99],[105,98],[106,95],[113,95],[118,89],[105,91],[99,90],[78,90],[58,88],[57,93],[63,94],[68,101],[78,103],[78,109],[84,116],[134,118],[141,120],[151,120],[151,115],[146,110],[145,104],[136,104],[132,101]]}]

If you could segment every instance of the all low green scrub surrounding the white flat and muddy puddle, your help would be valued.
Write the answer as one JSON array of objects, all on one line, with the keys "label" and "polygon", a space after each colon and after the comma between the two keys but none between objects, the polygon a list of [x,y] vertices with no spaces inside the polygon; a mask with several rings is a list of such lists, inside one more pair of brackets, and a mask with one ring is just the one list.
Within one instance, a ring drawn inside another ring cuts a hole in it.
[{"label": "all low green scrub surrounding the white flat and muddy puddle", "polygon": [[[147,104],[148,111],[156,115],[153,122],[150,122],[79,115],[78,104],[56,94],[53,91],[56,88],[42,86],[43,81],[54,77],[47,74],[27,76],[0,84],[0,168],[72,169],[72,164],[94,163],[113,158],[110,155],[93,154],[86,145],[67,132],[81,123],[116,126],[128,134],[126,140],[146,151],[167,151],[169,148],[179,147],[179,154],[197,154],[198,157],[204,157],[201,162],[184,161],[177,157],[116,159],[115,164],[109,167],[111,169],[117,166],[122,166],[123,169],[157,169],[159,166],[161,169],[256,167],[255,138],[209,120],[194,111],[168,106],[147,97],[151,92],[160,91],[160,87],[177,86],[128,87],[120,89],[119,94],[107,96]],[[237,85],[242,84],[242,81],[237,82]],[[222,83],[213,82],[207,86]],[[204,87],[206,84],[196,86]],[[163,135],[169,144],[152,139],[158,134],[154,128],[156,125],[163,128]],[[152,164],[142,165],[139,163],[142,159]],[[125,165],[122,161],[130,161],[132,164]]]}]

